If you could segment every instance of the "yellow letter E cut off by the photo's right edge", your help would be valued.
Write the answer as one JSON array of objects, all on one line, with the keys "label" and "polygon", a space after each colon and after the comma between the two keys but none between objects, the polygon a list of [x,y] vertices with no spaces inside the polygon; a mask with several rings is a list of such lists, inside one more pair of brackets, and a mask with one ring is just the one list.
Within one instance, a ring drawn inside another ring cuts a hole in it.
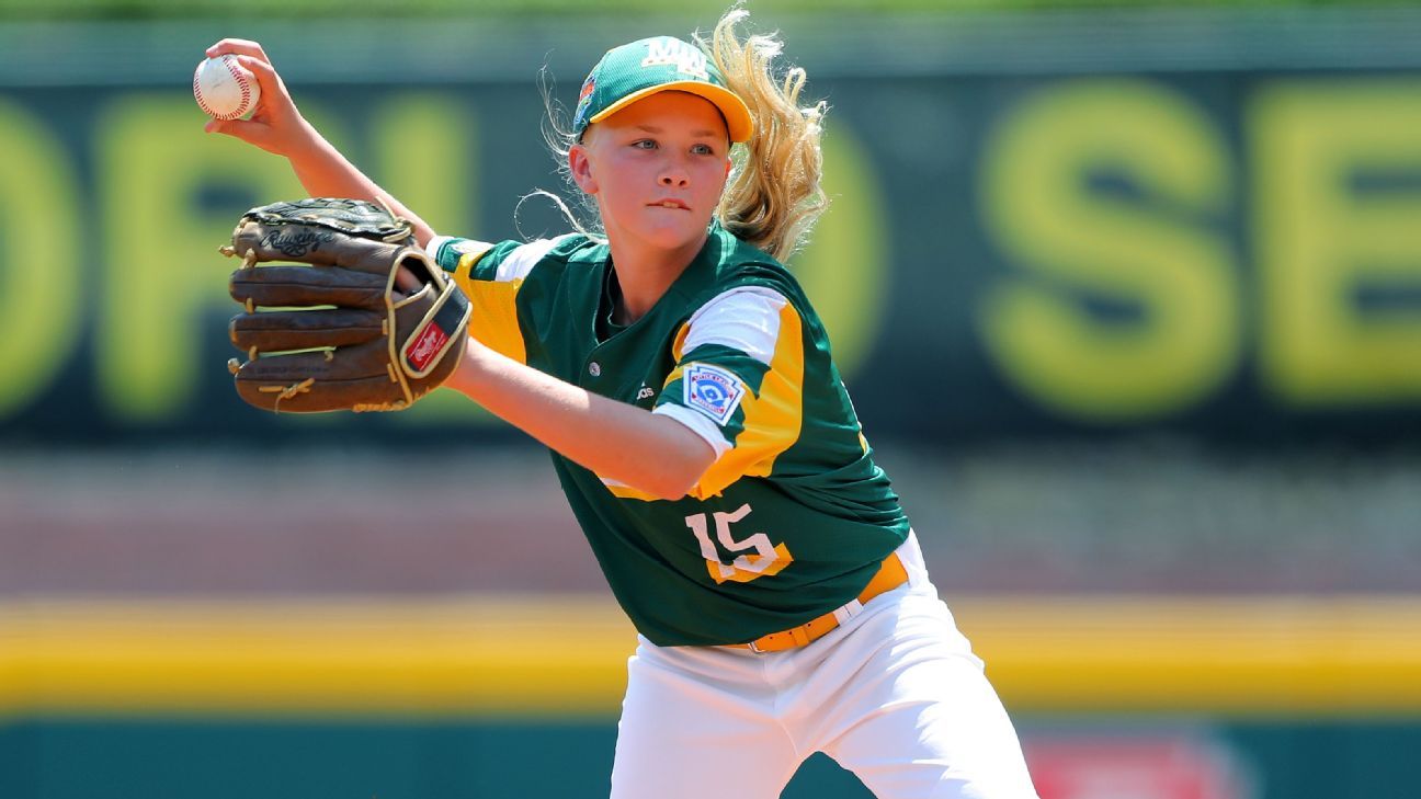
[{"label": "yellow letter E cut off by the photo's right edge", "polygon": [[[1421,84],[1285,81],[1249,102],[1265,388],[1299,405],[1421,397]],[[1367,178],[1408,176],[1404,191]]]}]

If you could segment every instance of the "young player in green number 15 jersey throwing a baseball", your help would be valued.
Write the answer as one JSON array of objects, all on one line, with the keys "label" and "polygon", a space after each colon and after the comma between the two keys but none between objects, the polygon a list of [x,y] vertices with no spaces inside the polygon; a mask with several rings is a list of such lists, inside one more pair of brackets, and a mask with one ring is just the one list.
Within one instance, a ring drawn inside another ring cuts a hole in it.
[{"label": "young player in green number 15 jersey throwing a baseball", "polygon": [[882,798],[1033,798],[782,266],[824,208],[823,105],[743,16],[587,77],[563,156],[598,233],[436,236],[303,119],[256,43],[207,50],[261,84],[253,119],[207,129],[288,158],[311,195],[385,202],[469,296],[446,385],[551,449],[639,633],[612,796],[773,798],[827,752]]}]

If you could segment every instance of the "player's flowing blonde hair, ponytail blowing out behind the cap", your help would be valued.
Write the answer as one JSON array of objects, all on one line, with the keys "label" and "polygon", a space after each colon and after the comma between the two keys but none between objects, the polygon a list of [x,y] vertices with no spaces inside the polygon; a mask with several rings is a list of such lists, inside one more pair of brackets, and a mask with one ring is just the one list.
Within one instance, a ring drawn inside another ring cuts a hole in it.
[{"label": "player's flowing blonde hair, ponytail blowing out behind the cap", "polygon": [[[730,176],[715,215],[726,230],[783,262],[809,242],[814,222],[828,208],[820,186],[823,155],[818,144],[828,105],[823,101],[800,105],[804,70],[791,67],[777,77],[774,60],[783,43],[774,34],[742,38],[739,24],[749,16],[745,9],[735,7],[716,23],[709,41],[699,31],[693,34],[696,45],[720,70],[726,88],[745,101],[755,118],[755,135],[730,151]],[[576,188],[567,154],[577,136],[546,84],[543,100],[549,109],[543,138],[558,158],[558,171]],[[553,199],[580,233],[601,233],[600,225],[581,223],[557,195],[536,191],[529,196]],[[595,219],[597,203],[587,195],[581,195],[581,200],[583,209]]]}]

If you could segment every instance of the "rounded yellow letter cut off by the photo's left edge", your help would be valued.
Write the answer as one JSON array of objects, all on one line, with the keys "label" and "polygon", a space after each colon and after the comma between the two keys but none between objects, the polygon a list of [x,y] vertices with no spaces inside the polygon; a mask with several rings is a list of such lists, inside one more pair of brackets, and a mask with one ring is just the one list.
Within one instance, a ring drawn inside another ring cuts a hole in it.
[{"label": "rounded yellow letter cut off by the photo's left edge", "polygon": [[78,181],[53,132],[0,98],[0,419],[74,351],[94,274],[80,273]]}]

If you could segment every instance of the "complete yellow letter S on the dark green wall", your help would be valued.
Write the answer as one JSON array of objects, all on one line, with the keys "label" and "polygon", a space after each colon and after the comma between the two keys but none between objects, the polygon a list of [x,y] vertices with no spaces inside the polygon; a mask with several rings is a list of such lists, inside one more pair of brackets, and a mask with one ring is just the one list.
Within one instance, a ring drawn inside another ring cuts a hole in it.
[{"label": "complete yellow letter S on the dark green wall", "polygon": [[[1080,80],[1023,100],[982,171],[985,227],[1016,267],[980,330],[1003,375],[1063,417],[1131,422],[1215,391],[1239,357],[1228,245],[1226,146],[1202,109],[1134,80]],[[1145,198],[1113,196],[1094,175]],[[1087,300],[1137,318],[1107,320]]]}]

